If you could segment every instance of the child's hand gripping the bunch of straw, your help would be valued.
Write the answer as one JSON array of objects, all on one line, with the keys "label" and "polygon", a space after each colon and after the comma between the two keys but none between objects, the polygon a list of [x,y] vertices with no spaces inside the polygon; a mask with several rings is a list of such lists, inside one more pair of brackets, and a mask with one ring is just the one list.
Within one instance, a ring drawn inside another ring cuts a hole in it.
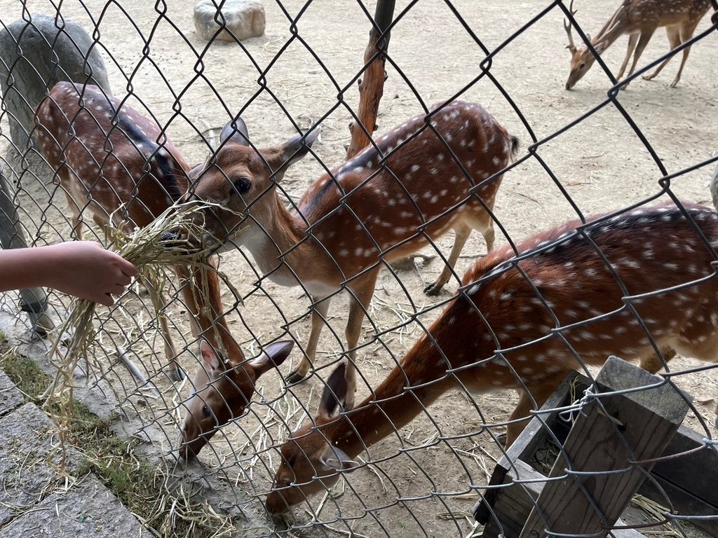
[{"label": "child's hand gripping the bunch of straw", "polygon": [[42,247],[50,264],[47,285],[57,291],[111,306],[137,268],[121,256],[93,241],[71,241]]}]

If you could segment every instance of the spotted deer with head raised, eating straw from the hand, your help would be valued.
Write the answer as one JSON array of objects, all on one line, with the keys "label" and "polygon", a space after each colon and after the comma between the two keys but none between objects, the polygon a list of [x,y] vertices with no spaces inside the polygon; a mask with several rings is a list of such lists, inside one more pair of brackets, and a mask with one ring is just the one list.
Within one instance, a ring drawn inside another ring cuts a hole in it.
[{"label": "spotted deer with head raised, eating straw from the hand", "polygon": [[[230,245],[244,245],[261,274],[282,285],[302,285],[312,296],[306,356],[289,382],[304,378],[314,364],[332,296],[349,291],[345,403],[351,407],[355,347],[383,263],[405,258],[453,229],[447,266],[426,288],[438,293],[472,229],[482,232],[490,250],[494,231],[488,211],[518,141],[480,105],[448,103],[394,128],[322,176],[299,200],[297,212],[289,212],[276,186],[317,135],[315,129],[257,150],[248,144],[243,121],[230,122],[192,192],[228,209],[203,211],[206,241],[228,237]],[[471,191],[491,176],[493,181]]]}]

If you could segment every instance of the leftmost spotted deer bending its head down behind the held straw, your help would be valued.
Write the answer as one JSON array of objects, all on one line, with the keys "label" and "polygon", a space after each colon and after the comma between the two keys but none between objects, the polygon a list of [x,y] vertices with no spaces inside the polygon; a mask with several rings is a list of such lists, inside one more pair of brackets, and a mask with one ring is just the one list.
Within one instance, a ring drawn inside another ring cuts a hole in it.
[{"label": "leftmost spotted deer bending its head down behind the held straw", "polygon": [[[98,225],[113,220],[114,226],[132,230],[148,225],[187,192],[190,167],[157,123],[97,86],[58,82],[39,106],[37,123],[39,147],[65,190],[78,239],[85,207]],[[182,426],[183,438],[192,443],[182,445],[180,453],[192,456],[214,433],[215,417],[205,412],[207,406],[212,405],[224,422],[232,411],[240,415],[256,379],[284,361],[292,342],[271,344],[258,358],[246,361],[223,317],[217,274],[191,271],[185,265],[175,270],[190,311],[192,334],[206,339],[200,345],[203,360]],[[201,293],[205,288],[206,297]],[[162,296],[159,291],[149,292]],[[167,320],[160,316],[160,321],[172,374],[179,379],[182,369]],[[220,349],[226,360],[215,351]],[[219,400],[226,402],[224,408]]]}]

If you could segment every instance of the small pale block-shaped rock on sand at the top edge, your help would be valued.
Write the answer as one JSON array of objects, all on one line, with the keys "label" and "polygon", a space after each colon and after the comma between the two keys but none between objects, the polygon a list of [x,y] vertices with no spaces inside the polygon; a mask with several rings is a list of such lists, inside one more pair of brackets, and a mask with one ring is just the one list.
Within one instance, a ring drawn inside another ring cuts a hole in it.
[{"label": "small pale block-shaped rock on sand at the top edge", "polygon": [[[195,28],[207,39],[249,39],[264,34],[266,19],[264,5],[260,0],[227,0],[222,7],[222,16],[218,16],[218,0],[200,0],[195,6]],[[217,18],[220,22],[215,21]],[[216,37],[215,34],[224,27]],[[230,33],[231,32],[231,33]]]}]

